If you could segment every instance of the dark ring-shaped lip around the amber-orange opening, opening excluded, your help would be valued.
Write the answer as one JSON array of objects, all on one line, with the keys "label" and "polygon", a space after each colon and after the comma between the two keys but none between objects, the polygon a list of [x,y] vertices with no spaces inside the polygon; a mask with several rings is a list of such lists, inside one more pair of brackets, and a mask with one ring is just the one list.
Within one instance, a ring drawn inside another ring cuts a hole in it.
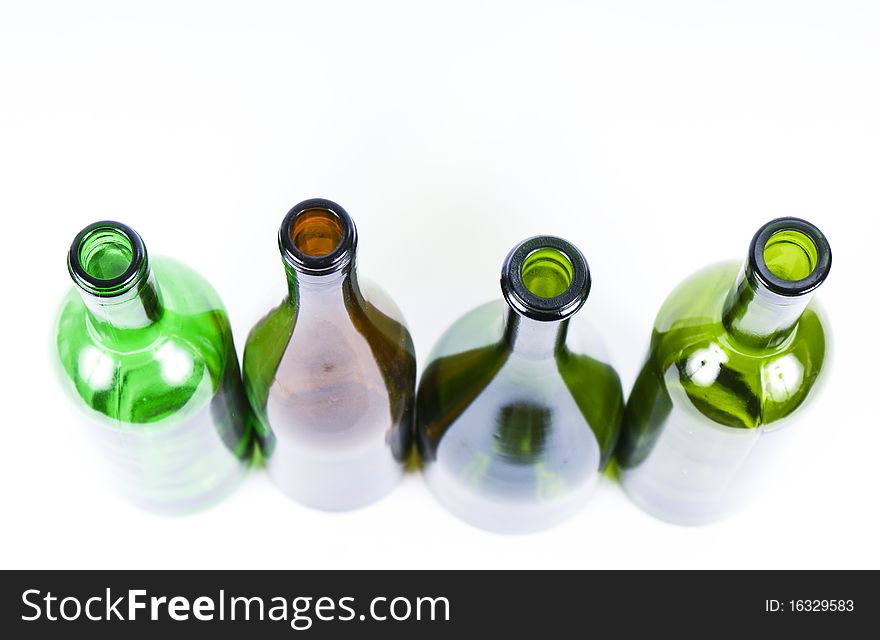
[{"label": "dark ring-shaped lip around the amber-orange opening, opening excluded", "polygon": [[[313,210],[325,211],[335,216],[341,229],[341,237],[336,247],[320,256],[301,251],[294,243],[291,234],[296,219]],[[284,216],[278,230],[278,246],[284,262],[296,271],[309,275],[327,275],[340,271],[351,262],[357,248],[357,228],[348,212],[332,200],[310,198],[294,206]]]}]

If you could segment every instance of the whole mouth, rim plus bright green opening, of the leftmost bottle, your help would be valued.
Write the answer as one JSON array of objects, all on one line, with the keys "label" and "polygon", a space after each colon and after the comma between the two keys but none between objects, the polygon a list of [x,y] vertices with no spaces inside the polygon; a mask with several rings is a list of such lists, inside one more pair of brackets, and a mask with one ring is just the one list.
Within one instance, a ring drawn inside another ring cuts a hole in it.
[{"label": "whole mouth, rim plus bright green opening, of the leftmost bottle", "polygon": [[67,267],[74,283],[96,296],[116,296],[139,281],[146,270],[143,240],[131,227],[113,220],[94,222],[70,245]]}]

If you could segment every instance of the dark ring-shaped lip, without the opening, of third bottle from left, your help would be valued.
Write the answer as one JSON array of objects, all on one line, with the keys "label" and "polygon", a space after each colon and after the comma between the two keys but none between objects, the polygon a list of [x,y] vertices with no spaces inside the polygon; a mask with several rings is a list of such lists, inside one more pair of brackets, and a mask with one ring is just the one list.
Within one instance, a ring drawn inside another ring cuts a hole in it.
[{"label": "dark ring-shaped lip, without the opening, of third bottle from left", "polygon": [[[552,298],[543,298],[529,291],[522,278],[523,263],[535,251],[555,249],[571,263],[571,284]],[[590,294],[590,268],[580,250],[555,236],[534,236],[516,245],[504,260],[501,269],[501,291],[515,311],[540,321],[564,320],[580,309]]]}]

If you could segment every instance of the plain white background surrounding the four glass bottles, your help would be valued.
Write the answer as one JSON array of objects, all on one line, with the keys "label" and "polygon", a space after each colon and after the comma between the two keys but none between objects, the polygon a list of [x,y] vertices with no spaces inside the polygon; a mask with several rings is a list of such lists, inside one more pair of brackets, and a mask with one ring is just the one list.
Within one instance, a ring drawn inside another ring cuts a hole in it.
[{"label": "plain white background surrounding the four glass bottles", "polygon": [[[3,2],[0,566],[878,568],[878,176],[877,2]],[[519,537],[418,475],[346,514],[263,472],[194,516],[129,506],[51,366],[71,239],[129,223],[211,280],[241,350],[312,196],[355,218],[421,362],[515,243],[573,241],[627,390],[672,286],[805,217],[834,252],[831,375],[764,490],[701,528],[608,481]]]}]

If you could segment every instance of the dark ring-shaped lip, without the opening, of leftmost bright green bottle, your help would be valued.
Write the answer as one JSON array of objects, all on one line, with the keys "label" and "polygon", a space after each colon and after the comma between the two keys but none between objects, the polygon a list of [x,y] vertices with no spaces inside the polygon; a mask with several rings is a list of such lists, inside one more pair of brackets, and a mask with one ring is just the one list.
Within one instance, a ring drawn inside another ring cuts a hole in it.
[{"label": "dark ring-shaped lip, without the opening, of leftmost bright green bottle", "polygon": [[[80,257],[88,239],[101,231],[121,233],[128,238],[131,245],[131,262],[125,271],[114,278],[98,278],[88,273]],[[74,237],[67,254],[67,270],[74,283],[83,291],[100,298],[117,297],[143,280],[148,271],[147,249],[140,235],[128,225],[115,220],[93,222]]]}]

